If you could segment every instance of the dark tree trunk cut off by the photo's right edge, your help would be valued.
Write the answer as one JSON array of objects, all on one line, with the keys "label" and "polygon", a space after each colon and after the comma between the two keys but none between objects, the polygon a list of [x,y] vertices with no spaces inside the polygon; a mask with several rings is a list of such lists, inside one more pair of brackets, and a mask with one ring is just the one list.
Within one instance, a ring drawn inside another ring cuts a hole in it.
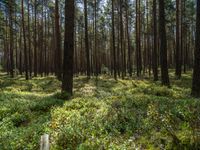
[{"label": "dark tree trunk cut off by the photo's right edge", "polygon": [[196,13],[196,44],[195,44],[195,61],[192,82],[192,95],[200,97],[200,1],[197,0]]}]

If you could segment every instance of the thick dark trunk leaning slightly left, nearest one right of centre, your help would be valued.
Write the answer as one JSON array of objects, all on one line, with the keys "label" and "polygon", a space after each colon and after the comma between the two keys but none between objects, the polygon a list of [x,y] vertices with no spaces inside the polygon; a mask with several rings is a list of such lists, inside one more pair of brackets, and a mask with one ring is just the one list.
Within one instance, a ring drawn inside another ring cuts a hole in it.
[{"label": "thick dark trunk leaning slightly left, nearest one right of centre", "polygon": [[160,65],[161,81],[163,85],[170,86],[167,64],[167,39],[165,29],[165,2],[159,0],[159,31],[160,31]]}]

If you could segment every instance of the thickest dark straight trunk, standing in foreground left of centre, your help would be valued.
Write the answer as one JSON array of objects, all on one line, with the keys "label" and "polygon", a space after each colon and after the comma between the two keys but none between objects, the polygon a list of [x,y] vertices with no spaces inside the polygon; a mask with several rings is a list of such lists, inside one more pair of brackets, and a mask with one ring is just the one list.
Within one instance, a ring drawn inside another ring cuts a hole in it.
[{"label": "thickest dark straight trunk, standing in foreground left of centre", "polygon": [[62,92],[66,92],[70,95],[73,93],[74,5],[74,0],[65,0],[65,37]]}]

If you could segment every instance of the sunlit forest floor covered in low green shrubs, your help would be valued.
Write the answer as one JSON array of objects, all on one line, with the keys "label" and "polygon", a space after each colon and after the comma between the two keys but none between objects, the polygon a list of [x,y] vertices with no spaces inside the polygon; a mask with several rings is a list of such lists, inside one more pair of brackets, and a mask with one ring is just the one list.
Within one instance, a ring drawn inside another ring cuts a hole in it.
[{"label": "sunlit forest floor covered in low green shrubs", "polygon": [[0,149],[39,149],[50,134],[54,149],[199,149],[200,100],[190,96],[191,73],[171,88],[151,79],[74,79],[61,100],[53,76],[9,78],[0,73]]}]

